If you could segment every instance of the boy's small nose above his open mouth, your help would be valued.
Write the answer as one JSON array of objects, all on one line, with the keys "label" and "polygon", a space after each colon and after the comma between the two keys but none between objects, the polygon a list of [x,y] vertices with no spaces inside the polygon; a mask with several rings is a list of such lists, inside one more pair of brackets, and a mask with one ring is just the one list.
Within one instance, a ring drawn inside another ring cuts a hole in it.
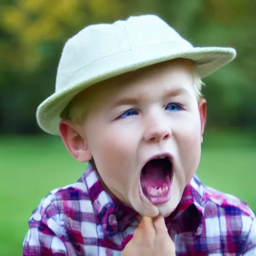
[{"label": "boy's small nose above his open mouth", "polygon": [[160,142],[161,140],[167,140],[171,136],[171,129],[166,120],[154,118],[150,119],[147,124],[144,132],[144,140],[146,142]]}]

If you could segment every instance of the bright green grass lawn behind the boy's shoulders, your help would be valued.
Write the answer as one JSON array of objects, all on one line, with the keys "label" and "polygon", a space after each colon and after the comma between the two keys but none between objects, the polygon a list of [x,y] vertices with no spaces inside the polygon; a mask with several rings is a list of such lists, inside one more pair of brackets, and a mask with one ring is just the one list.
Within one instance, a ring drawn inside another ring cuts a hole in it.
[{"label": "bright green grass lawn behind the boy's shoulders", "polygon": [[[197,174],[207,185],[232,193],[255,211],[255,138],[205,135]],[[49,190],[81,175],[60,139],[53,136],[0,138],[0,255],[21,255],[27,220]]]}]

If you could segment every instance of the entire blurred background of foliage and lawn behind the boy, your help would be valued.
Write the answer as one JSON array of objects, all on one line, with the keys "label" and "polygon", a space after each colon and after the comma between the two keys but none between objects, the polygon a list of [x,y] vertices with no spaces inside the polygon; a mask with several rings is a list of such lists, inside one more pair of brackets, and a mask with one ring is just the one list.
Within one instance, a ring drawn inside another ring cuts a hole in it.
[{"label": "entire blurred background of foliage and lawn behind the boy", "polygon": [[64,42],[88,24],[143,13],[160,15],[196,46],[237,50],[203,79],[208,118],[197,173],[256,211],[256,1],[0,0],[0,255],[21,255],[40,199],[85,168],[35,121],[54,91]]}]

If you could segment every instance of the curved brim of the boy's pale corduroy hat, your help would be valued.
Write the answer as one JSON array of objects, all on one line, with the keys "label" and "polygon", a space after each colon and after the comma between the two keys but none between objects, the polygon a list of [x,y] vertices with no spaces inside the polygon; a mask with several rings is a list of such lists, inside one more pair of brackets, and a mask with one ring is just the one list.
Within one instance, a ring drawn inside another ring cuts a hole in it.
[{"label": "curved brim of the boy's pale corduroy hat", "polygon": [[[107,71],[92,76],[84,81],[74,83],[71,86],[68,86],[68,88],[54,92],[52,95],[47,97],[37,107],[37,123],[45,132],[59,135],[58,127],[61,120],[60,113],[70,100],[83,89],[113,76],[174,58],[187,58],[195,62],[201,77],[204,77],[234,59],[235,55],[235,50],[229,47],[194,47],[183,52],[166,52],[166,54],[161,54],[154,58],[149,57],[145,58],[143,61],[113,66],[112,68],[111,65],[109,65]],[[120,55],[119,57],[121,58],[122,56]]]}]

